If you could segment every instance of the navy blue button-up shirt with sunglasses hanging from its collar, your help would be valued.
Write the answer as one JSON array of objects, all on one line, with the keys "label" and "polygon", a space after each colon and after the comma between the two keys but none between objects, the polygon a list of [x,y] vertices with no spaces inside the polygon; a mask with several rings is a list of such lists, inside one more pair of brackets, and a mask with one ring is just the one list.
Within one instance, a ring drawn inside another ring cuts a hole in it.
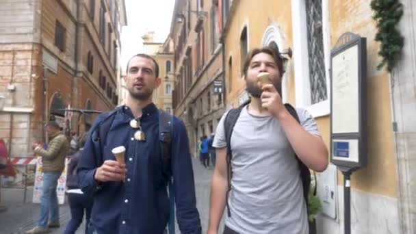
[{"label": "navy blue button-up shirt with sunglasses hanging from its collar", "polygon": [[[99,126],[104,116],[101,114],[95,120],[92,131]],[[160,234],[168,222],[169,198],[162,175],[158,109],[152,103],[142,110],[140,122],[146,134],[145,142],[134,140],[136,129],[129,125],[132,118],[129,107],[118,107],[102,152],[95,152],[90,134],[79,160],[79,185],[85,194],[94,194],[91,224],[99,234]],[[95,170],[99,167],[96,165],[96,155],[102,153],[103,161],[115,160],[112,148],[121,145],[126,148],[126,181],[97,184],[94,180]],[[200,234],[189,142],[185,125],[176,117],[172,120],[171,152],[179,229],[181,233]]]}]

